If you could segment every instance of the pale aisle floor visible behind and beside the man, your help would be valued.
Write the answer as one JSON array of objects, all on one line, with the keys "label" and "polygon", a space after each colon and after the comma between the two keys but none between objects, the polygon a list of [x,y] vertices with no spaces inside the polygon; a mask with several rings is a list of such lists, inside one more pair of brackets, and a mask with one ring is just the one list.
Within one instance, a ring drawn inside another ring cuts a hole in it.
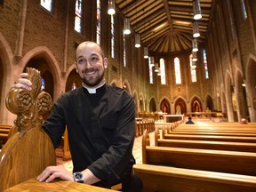
[{"label": "pale aisle floor visible behind and beside the man", "polygon": [[[155,145],[154,134],[155,132],[149,133],[150,145]],[[132,154],[136,159],[136,164],[142,164],[141,140],[142,140],[142,136],[135,138],[134,146],[132,150]],[[72,161],[62,161],[60,158],[57,158],[57,164],[63,164],[69,172],[72,172],[72,169],[73,169]]]}]

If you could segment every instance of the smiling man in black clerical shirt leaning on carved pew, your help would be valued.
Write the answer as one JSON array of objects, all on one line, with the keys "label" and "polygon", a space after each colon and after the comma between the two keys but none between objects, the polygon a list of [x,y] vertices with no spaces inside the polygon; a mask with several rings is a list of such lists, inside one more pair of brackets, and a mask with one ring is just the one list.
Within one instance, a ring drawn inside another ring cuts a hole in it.
[{"label": "smiling man in black clerical shirt leaning on carved pew", "polygon": [[[66,92],[54,103],[44,124],[54,148],[68,127],[69,147],[74,165],[71,174],[61,165],[45,168],[37,180],[75,180],[103,188],[122,183],[123,191],[141,191],[141,180],[132,174],[135,107],[132,96],[105,83],[108,59],[93,42],[76,49],[76,72],[83,87]],[[14,87],[31,90],[31,82],[21,74]]]}]

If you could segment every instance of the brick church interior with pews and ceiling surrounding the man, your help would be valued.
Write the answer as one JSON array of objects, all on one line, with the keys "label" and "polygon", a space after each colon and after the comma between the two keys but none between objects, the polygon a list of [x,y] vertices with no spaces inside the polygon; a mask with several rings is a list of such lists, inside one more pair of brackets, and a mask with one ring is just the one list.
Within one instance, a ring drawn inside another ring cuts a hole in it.
[{"label": "brick church interior with pews and ceiling surrounding the man", "polygon": [[[81,87],[76,48],[93,41],[108,58],[106,83],[134,99],[143,191],[255,191],[253,10],[254,0],[0,0],[1,148],[20,121],[7,97],[20,74],[36,68],[54,102]],[[72,172],[67,131],[54,153]]]}]

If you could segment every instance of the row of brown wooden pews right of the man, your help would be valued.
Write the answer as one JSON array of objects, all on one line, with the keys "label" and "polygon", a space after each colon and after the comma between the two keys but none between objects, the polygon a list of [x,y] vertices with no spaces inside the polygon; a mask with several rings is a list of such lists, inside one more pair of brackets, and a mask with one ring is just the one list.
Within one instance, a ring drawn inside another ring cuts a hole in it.
[{"label": "row of brown wooden pews right of the man", "polygon": [[256,124],[162,124],[134,165],[143,191],[256,191]]}]

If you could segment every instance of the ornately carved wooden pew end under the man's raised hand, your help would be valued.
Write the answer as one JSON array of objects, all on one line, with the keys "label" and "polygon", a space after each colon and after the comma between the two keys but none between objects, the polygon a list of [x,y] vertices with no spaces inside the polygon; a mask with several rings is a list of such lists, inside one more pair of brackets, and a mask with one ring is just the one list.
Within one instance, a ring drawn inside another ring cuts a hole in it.
[{"label": "ornately carved wooden pew end under the man's raised hand", "polygon": [[17,118],[15,132],[0,152],[0,191],[34,178],[46,166],[56,164],[52,140],[41,128],[44,113],[52,108],[52,98],[41,92],[40,73],[33,68],[27,68],[27,72],[32,91],[12,88],[6,98],[6,107]]}]

